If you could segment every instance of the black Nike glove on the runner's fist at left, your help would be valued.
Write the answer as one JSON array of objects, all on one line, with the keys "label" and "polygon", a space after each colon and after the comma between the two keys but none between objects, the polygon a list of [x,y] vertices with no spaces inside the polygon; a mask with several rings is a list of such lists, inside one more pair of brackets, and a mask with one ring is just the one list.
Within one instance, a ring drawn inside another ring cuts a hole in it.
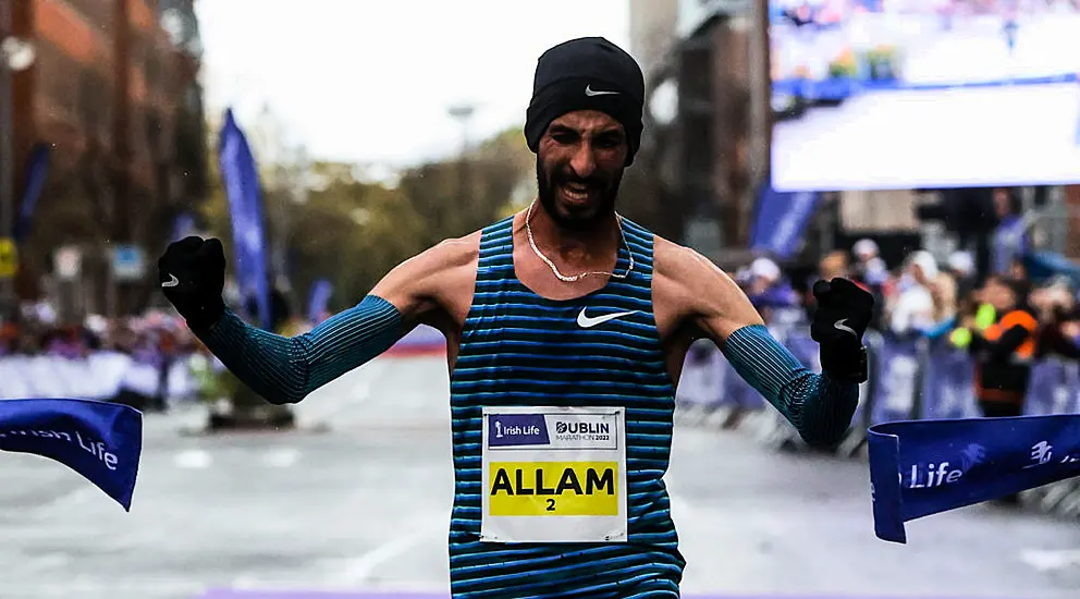
[{"label": "black Nike glove on the runner's fist at left", "polygon": [[193,331],[205,330],[225,310],[225,252],[217,239],[184,237],[158,258],[161,292]]}]

